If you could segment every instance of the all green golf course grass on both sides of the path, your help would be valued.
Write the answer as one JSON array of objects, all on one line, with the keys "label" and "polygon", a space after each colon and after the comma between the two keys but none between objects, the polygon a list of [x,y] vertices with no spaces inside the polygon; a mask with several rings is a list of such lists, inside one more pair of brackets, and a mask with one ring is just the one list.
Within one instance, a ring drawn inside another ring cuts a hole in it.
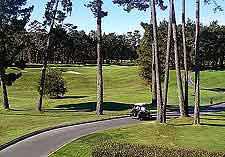
[{"label": "all green golf course grass on both sides of the path", "polygon": [[[23,70],[23,76],[12,87],[8,88],[11,110],[1,110],[1,144],[43,128],[126,115],[129,113],[129,105],[134,103],[144,102],[150,104],[150,88],[146,87],[138,76],[138,67],[136,66],[105,65],[103,67],[105,82],[105,112],[103,116],[95,114],[95,66],[65,65],[57,67],[51,65],[50,68],[63,71],[69,92],[61,99],[45,97],[44,112],[38,113],[36,111],[38,97],[36,86],[40,77],[40,68],[26,68]],[[9,70],[17,69],[11,68]],[[178,100],[175,94],[177,92],[176,82],[173,81],[175,80],[173,78],[175,77],[175,71],[170,72],[170,77],[168,104],[169,109],[173,110],[178,108],[176,105]],[[225,72],[204,71],[201,78],[201,105],[210,105],[211,99],[213,99],[214,104],[223,103],[225,101],[224,90],[221,87],[225,87],[223,81]],[[193,104],[192,94],[193,87],[190,87],[190,105]],[[190,106],[190,108],[193,107]],[[151,106],[151,109],[154,111],[155,107]],[[84,137],[85,140],[74,141],[72,144],[60,149],[59,153],[53,156],[62,156],[61,153],[66,156],[68,153],[67,156],[69,157],[74,154],[74,149],[76,149],[75,152],[81,154],[80,156],[90,156],[91,145],[104,139],[115,141],[121,139],[123,142],[130,143],[166,144],[167,146],[182,148],[223,151],[224,141],[220,140],[224,137],[225,132],[223,112],[205,115],[202,119],[203,125],[199,127],[193,127],[191,118],[187,118],[184,120],[171,120],[165,126],[146,122],[128,128],[97,133]],[[172,136],[166,135],[168,133]],[[165,136],[165,138],[163,140],[158,139],[159,134]],[[177,134],[179,134],[179,137]],[[190,134],[191,138],[186,136],[187,134]],[[215,140],[213,143],[212,138]],[[193,141],[190,139],[193,139]],[[211,147],[212,144],[215,147]],[[82,155],[83,153],[85,155]]]}]

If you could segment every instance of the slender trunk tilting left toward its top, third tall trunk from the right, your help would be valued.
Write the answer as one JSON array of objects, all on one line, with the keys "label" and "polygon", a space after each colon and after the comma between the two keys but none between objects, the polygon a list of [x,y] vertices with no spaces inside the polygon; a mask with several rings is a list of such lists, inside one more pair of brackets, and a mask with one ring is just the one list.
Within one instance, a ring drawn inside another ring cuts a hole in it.
[{"label": "slender trunk tilting left toward its top, third tall trunk from the right", "polygon": [[176,67],[176,76],[177,76],[177,90],[178,90],[178,99],[179,99],[179,106],[180,106],[180,116],[185,116],[184,111],[184,94],[183,94],[183,87],[182,87],[182,79],[181,79],[181,72],[180,72],[180,61],[179,61],[179,54],[178,54],[178,44],[177,44],[177,26],[176,26],[176,17],[175,17],[175,9],[174,9],[174,0],[172,0],[172,28],[173,28],[173,40],[174,40],[174,54],[175,54],[175,67]]}]

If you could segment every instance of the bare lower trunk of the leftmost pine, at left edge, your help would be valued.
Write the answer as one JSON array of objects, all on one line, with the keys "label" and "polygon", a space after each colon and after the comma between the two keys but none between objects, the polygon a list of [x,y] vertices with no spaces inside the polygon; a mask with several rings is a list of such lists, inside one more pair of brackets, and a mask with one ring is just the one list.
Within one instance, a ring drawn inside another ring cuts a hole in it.
[{"label": "bare lower trunk of the leftmost pine, at left edge", "polygon": [[2,86],[2,96],[3,96],[3,108],[9,109],[9,100],[8,100],[8,93],[7,87],[5,82],[5,70],[0,70],[0,79],[1,79],[1,86]]}]

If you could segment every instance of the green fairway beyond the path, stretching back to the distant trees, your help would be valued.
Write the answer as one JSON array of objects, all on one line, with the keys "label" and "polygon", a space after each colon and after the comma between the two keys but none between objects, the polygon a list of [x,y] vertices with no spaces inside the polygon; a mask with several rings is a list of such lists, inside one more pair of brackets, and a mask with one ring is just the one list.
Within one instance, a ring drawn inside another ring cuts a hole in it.
[{"label": "green fairway beyond the path, stretching back to the distant trees", "polygon": [[[149,87],[138,76],[136,66],[104,66],[104,116],[95,115],[96,67],[92,65],[66,65],[59,67],[64,72],[69,92],[63,99],[44,99],[44,113],[36,111],[37,80],[40,68],[27,68],[23,76],[8,88],[10,111],[0,109],[0,144],[17,136],[59,124],[103,119],[128,113],[129,104],[151,101]],[[216,78],[214,78],[216,76]],[[202,74],[205,88],[225,87],[224,71],[207,71]],[[175,71],[171,71],[169,104],[176,106],[177,90]],[[214,86],[216,80],[216,84]],[[193,105],[193,89],[190,90],[190,105]],[[201,103],[208,105],[224,101],[221,91],[202,90]],[[2,102],[2,96],[0,97]]]}]

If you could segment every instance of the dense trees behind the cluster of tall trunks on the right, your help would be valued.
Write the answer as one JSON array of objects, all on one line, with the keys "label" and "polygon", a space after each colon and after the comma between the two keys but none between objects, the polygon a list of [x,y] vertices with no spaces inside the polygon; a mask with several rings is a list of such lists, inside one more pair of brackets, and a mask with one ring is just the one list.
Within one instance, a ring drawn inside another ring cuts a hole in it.
[{"label": "dense trees behind the cluster of tall trunks on the right", "polygon": [[[138,65],[140,69],[140,76],[145,80],[147,84],[151,83],[152,79],[152,53],[151,53],[151,39],[152,27],[147,23],[142,23],[142,27],[145,30],[144,36],[140,41],[138,47]],[[161,74],[164,74],[165,61],[166,61],[166,48],[167,48],[167,27],[168,22],[162,21],[158,26],[158,42],[160,52]],[[178,51],[180,66],[184,69],[184,60],[182,48],[182,25],[177,26],[177,40],[178,40]],[[187,47],[187,60],[188,67],[193,70],[194,67],[194,47],[193,42],[195,38],[195,23],[190,19],[186,23],[186,47]],[[210,23],[210,25],[201,25],[200,32],[200,60],[201,69],[220,69],[224,68],[225,64],[225,26],[219,25],[217,21]],[[170,53],[170,69],[175,68],[175,56],[173,44],[171,44]],[[162,76],[163,77],[163,76]]]}]

